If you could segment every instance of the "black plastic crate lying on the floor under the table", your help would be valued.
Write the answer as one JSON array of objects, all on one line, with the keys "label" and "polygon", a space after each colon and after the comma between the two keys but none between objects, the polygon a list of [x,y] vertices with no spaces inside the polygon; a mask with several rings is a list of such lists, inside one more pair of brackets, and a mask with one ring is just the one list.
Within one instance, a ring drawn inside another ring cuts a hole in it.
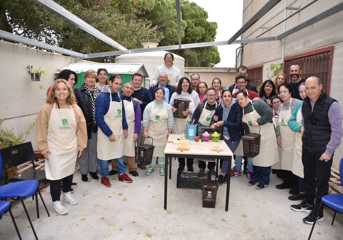
[{"label": "black plastic crate lying on the floor under the table", "polygon": [[201,189],[202,180],[211,180],[211,172],[177,172],[176,188]]}]

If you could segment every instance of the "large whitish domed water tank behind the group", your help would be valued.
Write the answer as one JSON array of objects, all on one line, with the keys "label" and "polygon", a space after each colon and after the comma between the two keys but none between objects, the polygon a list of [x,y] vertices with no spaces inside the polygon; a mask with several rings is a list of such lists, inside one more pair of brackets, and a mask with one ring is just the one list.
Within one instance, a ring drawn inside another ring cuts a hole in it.
[{"label": "large whitish domed water tank behind the group", "polygon": [[[157,47],[156,43],[143,43],[143,48]],[[149,74],[146,77],[146,87],[150,86],[152,78],[156,72],[156,68],[164,64],[164,55],[167,51],[155,51],[155,52],[142,52],[142,53],[131,53],[123,54],[116,57],[116,63],[143,63],[144,67]],[[181,77],[185,75],[185,59],[174,55],[174,65],[180,69]],[[187,76],[189,77],[189,76]],[[149,82],[148,82],[149,81]]]}]

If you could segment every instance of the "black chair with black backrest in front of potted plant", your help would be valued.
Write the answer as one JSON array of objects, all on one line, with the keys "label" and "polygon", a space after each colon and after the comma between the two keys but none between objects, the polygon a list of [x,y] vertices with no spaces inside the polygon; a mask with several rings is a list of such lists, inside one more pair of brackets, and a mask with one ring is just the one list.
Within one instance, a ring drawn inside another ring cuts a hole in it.
[{"label": "black chair with black backrest in front of potted plant", "polygon": [[[17,181],[24,181],[24,180],[37,180],[38,184],[42,184],[47,182],[48,180],[45,177],[45,171],[35,169],[35,154],[33,152],[32,144],[31,142],[22,143],[10,147],[5,147],[0,149],[0,154],[2,157],[2,164],[3,168],[5,169],[5,184],[8,183],[8,180],[11,180],[11,182],[17,182]],[[32,163],[33,169],[26,170],[25,172],[21,174],[17,174],[13,177],[8,178],[7,168],[17,166],[20,164],[24,164],[27,162]],[[42,194],[40,194],[39,188],[37,189],[36,193],[34,194],[36,196],[36,209],[37,209],[37,218],[39,218],[39,207],[38,207],[38,198],[37,194],[39,194],[40,199],[42,200],[42,203],[45,207],[45,210],[50,217],[50,214],[48,212],[48,209],[44,203]]]}]

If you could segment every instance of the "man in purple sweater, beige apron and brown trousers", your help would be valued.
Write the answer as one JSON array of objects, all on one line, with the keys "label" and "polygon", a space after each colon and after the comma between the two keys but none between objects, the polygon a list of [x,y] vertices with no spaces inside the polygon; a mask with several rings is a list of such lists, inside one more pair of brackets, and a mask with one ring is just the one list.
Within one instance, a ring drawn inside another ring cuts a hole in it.
[{"label": "man in purple sweater, beige apron and brown trousers", "polygon": [[[125,155],[127,167],[129,173],[137,177],[137,167],[134,159],[134,143],[138,139],[140,127],[141,127],[141,107],[137,103],[137,101],[132,100],[132,93],[133,93],[133,84],[132,82],[127,82],[124,84],[122,88],[122,95],[124,99],[124,107],[125,107],[125,116],[126,122],[129,126],[128,129],[128,137],[125,139],[123,137],[123,149],[125,149]],[[117,164],[116,161],[112,159],[112,170],[117,172]]]}]

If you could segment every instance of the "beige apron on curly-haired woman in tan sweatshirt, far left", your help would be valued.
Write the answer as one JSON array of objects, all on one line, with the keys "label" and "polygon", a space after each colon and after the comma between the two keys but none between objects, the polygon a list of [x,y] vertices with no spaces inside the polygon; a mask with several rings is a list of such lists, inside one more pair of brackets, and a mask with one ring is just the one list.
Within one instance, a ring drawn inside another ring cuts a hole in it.
[{"label": "beige apron on curly-haired woman in tan sweatshirt, far left", "polygon": [[59,180],[75,172],[78,137],[75,112],[52,108],[48,124],[47,146],[49,160],[45,161],[45,175],[49,180]]}]

